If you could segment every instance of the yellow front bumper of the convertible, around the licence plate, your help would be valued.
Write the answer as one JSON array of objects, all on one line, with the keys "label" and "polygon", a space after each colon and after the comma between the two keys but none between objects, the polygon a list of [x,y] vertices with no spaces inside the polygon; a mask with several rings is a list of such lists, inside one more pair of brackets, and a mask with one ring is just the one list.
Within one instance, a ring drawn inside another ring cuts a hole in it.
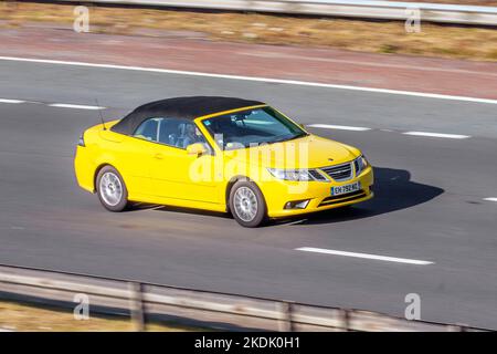
[{"label": "yellow front bumper of the convertible, around the licence plate", "polygon": [[[371,199],[374,195],[372,191],[373,179],[373,170],[369,166],[359,176],[341,183],[292,183],[273,180],[264,183],[260,187],[266,199],[267,216],[269,218],[282,218],[339,208]],[[331,196],[331,187],[343,186],[356,181],[360,181],[361,184],[359,191],[337,197]],[[309,202],[304,209],[285,209],[285,205],[288,201],[306,199],[309,199]]]}]

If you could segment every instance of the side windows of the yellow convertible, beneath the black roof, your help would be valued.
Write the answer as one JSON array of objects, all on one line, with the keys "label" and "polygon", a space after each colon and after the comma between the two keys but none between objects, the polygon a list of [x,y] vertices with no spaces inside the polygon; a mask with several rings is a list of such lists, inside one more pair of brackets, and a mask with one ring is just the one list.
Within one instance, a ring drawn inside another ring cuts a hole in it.
[{"label": "side windows of the yellow convertible, beneath the black roof", "polygon": [[204,136],[190,119],[173,117],[149,118],[140,124],[134,136],[178,148],[187,148],[188,145],[203,143],[210,150]]}]

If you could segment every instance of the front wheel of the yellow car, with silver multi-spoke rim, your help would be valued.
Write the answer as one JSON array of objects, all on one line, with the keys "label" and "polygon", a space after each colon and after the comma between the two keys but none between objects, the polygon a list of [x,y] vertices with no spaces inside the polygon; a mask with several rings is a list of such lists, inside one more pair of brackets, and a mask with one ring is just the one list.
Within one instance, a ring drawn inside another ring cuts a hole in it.
[{"label": "front wheel of the yellow car, with silver multi-spoke rim", "polygon": [[231,188],[230,210],[243,227],[256,228],[266,220],[267,208],[264,196],[252,181],[237,181]]}]

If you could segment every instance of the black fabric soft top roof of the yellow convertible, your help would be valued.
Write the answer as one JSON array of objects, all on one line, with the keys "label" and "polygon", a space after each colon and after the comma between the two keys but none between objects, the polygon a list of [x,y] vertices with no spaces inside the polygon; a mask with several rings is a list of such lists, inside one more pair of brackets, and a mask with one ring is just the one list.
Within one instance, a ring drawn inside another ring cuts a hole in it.
[{"label": "black fabric soft top roof of the yellow convertible", "polygon": [[248,106],[265,104],[258,101],[250,101],[234,97],[220,96],[192,96],[176,97],[150,102],[139,106],[118,123],[110,131],[131,135],[146,119],[152,117],[173,117],[194,119],[204,115],[231,111]]}]

